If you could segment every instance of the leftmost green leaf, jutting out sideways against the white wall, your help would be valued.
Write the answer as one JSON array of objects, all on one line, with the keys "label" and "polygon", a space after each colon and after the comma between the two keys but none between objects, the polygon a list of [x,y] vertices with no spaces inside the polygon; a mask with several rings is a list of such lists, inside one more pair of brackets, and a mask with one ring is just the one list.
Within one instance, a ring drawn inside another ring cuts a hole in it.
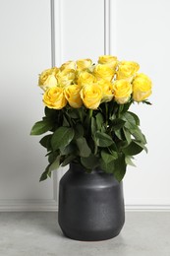
[{"label": "leftmost green leaf, jutting out sideways against the white wall", "polygon": [[49,120],[42,120],[36,122],[31,128],[30,135],[40,135],[51,130],[53,124]]}]

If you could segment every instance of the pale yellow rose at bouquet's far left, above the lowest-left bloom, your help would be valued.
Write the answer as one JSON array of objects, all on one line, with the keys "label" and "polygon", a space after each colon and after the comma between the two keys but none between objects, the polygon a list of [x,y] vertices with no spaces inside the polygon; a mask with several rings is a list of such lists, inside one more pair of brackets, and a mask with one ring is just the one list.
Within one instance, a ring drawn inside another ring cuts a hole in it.
[{"label": "pale yellow rose at bouquet's far left, above the lowest-left bloom", "polygon": [[58,68],[51,68],[44,70],[39,75],[38,86],[43,90],[46,91],[48,88],[57,86],[58,82],[56,79],[56,75],[59,72]]}]

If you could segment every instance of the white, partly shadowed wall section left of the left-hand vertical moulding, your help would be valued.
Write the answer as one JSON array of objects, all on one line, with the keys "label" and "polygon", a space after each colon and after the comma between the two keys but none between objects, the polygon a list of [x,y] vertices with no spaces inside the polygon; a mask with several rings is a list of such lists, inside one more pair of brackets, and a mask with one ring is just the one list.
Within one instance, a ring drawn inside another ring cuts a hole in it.
[{"label": "white, partly shadowed wall section left of the left-hand vertical moulding", "polygon": [[0,1],[0,208],[36,209],[53,202],[53,180],[39,138],[29,136],[43,107],[37,76],[51,65],[50,1]]}]

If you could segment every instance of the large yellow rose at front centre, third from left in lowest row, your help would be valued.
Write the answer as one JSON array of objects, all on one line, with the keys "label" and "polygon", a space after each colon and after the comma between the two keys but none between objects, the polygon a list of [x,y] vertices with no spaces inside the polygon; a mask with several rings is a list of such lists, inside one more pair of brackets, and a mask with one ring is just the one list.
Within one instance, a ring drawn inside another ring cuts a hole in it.
[{"label": "large yellow rose at front centre, third from left in lowest row", "polygon": [[96,109],[101,102],[102,90],[97,84],[86,85],[81,91],[85,107]]}]

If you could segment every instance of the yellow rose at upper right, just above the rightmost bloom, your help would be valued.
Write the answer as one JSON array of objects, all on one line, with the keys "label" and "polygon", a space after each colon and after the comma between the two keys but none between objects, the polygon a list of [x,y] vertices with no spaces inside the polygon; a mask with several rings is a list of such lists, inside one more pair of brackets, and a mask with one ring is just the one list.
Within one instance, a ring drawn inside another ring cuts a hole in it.
[{"label": "yellow rose at upper right, just above the rightmost bloom", "polygon": [[117,79],[131,78],[140,69],[140,65],[134,61],[121,61],[118,66]]}]

